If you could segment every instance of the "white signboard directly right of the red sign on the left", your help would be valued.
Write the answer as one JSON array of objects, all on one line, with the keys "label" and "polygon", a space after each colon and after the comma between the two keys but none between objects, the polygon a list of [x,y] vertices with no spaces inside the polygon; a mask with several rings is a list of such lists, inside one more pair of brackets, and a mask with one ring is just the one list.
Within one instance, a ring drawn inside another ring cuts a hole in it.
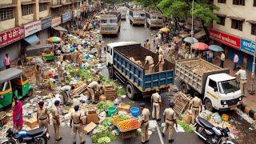
[{"label": "white signboard directly right of the red sign on the left", "polygon": [[25,38],[31,34],[34,34],[38,31],[42,30],[41,21],[31,22],[29,24],[26,24],[24,26],[24,30],[25,30],[25,35],[24,35]]}]

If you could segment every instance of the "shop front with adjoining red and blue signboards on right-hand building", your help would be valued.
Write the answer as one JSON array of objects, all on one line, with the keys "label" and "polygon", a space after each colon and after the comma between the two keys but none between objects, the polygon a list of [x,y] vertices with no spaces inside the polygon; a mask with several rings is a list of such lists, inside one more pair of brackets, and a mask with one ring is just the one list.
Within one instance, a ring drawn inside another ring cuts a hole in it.
[{"label": "shop front with adjoining red and blue signboards on right-hand building", "polygon": [[210,38],[213,39],[215,43],[221,43],[222,48],[225,50],[226,58],[233,61],[234,54],[238,54],[238,65],[246,67],[248,70],[252,70],[254,61],[254,42],[231,34],[226,34],[219,30],[210,30],[209,32]]}]

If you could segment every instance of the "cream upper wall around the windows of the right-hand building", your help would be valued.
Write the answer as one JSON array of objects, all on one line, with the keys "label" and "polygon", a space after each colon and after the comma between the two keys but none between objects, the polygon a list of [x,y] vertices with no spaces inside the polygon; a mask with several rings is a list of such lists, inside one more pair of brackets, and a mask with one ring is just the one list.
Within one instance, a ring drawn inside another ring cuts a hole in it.
[{"label": "cream upper wall around the windows of the right-hand building", "polygon": [[[226,0],[226,3],[218,3],[218,0],[214,0],[214,4],[220,9],[214,11],[216,14],[226,14],[225,26],[218,25],[214,22],[213,28],[216,30],[222,30],[229,34],[236,35],[238,37],[254,40],[255,36],[251,34],[251,24],[246,22],[247,20],[256,21],[256,6],[253,6],[254,0],[246,0],[245,6],[233,5],[232,0]],[[245,18],[243,22],[242,31],[231,28],[230,16]]]}]

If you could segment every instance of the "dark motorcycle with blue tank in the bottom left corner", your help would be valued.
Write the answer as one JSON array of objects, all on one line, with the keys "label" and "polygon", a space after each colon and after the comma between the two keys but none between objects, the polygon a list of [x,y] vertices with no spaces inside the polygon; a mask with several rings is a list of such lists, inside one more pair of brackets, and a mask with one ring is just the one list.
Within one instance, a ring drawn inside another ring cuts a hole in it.
[{"label": "dark motorcycle with blue tank in the bottom left corner", "polygon": [[50,135],[46,133],[46,128],[37,128],[34,130],[21,130],[15,132],[13,128],[6,131],[5,137],[1,144],[47,144]]}]

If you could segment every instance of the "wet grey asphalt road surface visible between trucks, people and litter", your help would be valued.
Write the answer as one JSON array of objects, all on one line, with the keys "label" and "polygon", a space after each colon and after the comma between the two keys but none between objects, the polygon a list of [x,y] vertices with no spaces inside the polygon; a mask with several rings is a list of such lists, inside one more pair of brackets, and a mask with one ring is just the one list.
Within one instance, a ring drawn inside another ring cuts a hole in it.
[{"label": "wet grey asphalt road surface visible between trucks, people and litter", "polygon": [[[146,28],[146,26],[131,26],[130,23],[128,22],[128,20],[126,20],[126,21],[122,21],[121,33],[118,35],[118,37],[114,37],[114,36],[103,37],[103,45],[106,45],[107,43],[110,43],[110,42],[123,42],[123,41],[136,41],[136,42],[143,43],[146,39],[152,38],[157,32],[158,32],[158,30],[149,30],[148,28]],[[105,73],[105,71],[106,71],[106,73]],[[106,69],[103,70],[102,73],[103,73],[102,75],[105,75],[105,74],[107,75],[107,70]],[[162,96],[164,98],[164,102],[166,102],[165,106],[167,106],[170,96],[166,95],[166,94],[163,94]],[[148,106],[148,108],[151,110],[149,98],[138,99],[135,102],[130,102],[130,100],[128,100],[128,99],[126,99],[126,101],[129,102],[130,105],[132,105],[132,106],[138,106],[138,103],[145,102],[146,105]],[[163,113],[163,109],[161,111],[161,117],[162,117],[162,113]],[[160,127],[160,130],[162,132],[161,123],[162,122],[158,122],[158,126]],[[52,136],[52,138],[50,138],[49,143],[55,143],[54,142],[54,128],[52,125],[50,126],[50,135]],[[62,139],[62,141],[57,142],[57,143],[59,143],[59,144],[72,143],[73,136],[71,134],[71,129],[69,126],[61,127],[61,135],[62,135],[63,139]],[[88,134],[84,135],[84,139],[86,140],[86,143],[91,143],[90,135],[88,135]],[[163,143],[168,143],[167,134],[166,134],[165,138],[162,138],[162,140],[163,140]],[[175,133],[174,134],[174,142],[173,143],[177,143],[177,144],[184,143],[185,144],[188,142],[190,142],[190,144],[203,143],[202,140],[200,140],[198,138],[198,136],[194,133],[192,133],[192,134]],[[141,143],[141,137],[138,136],[136,138],[126,139],[126,140],[122,140],[121,138],[118,138],[117,141],[112,142],[112,143],[139,144],[139,143]],[[149,144],[156,144],[156,143],[161,144],[158,130],[155,130],[153,132],[153,134],[150,136],[150,142],[148,142],[148,143]]]}]

